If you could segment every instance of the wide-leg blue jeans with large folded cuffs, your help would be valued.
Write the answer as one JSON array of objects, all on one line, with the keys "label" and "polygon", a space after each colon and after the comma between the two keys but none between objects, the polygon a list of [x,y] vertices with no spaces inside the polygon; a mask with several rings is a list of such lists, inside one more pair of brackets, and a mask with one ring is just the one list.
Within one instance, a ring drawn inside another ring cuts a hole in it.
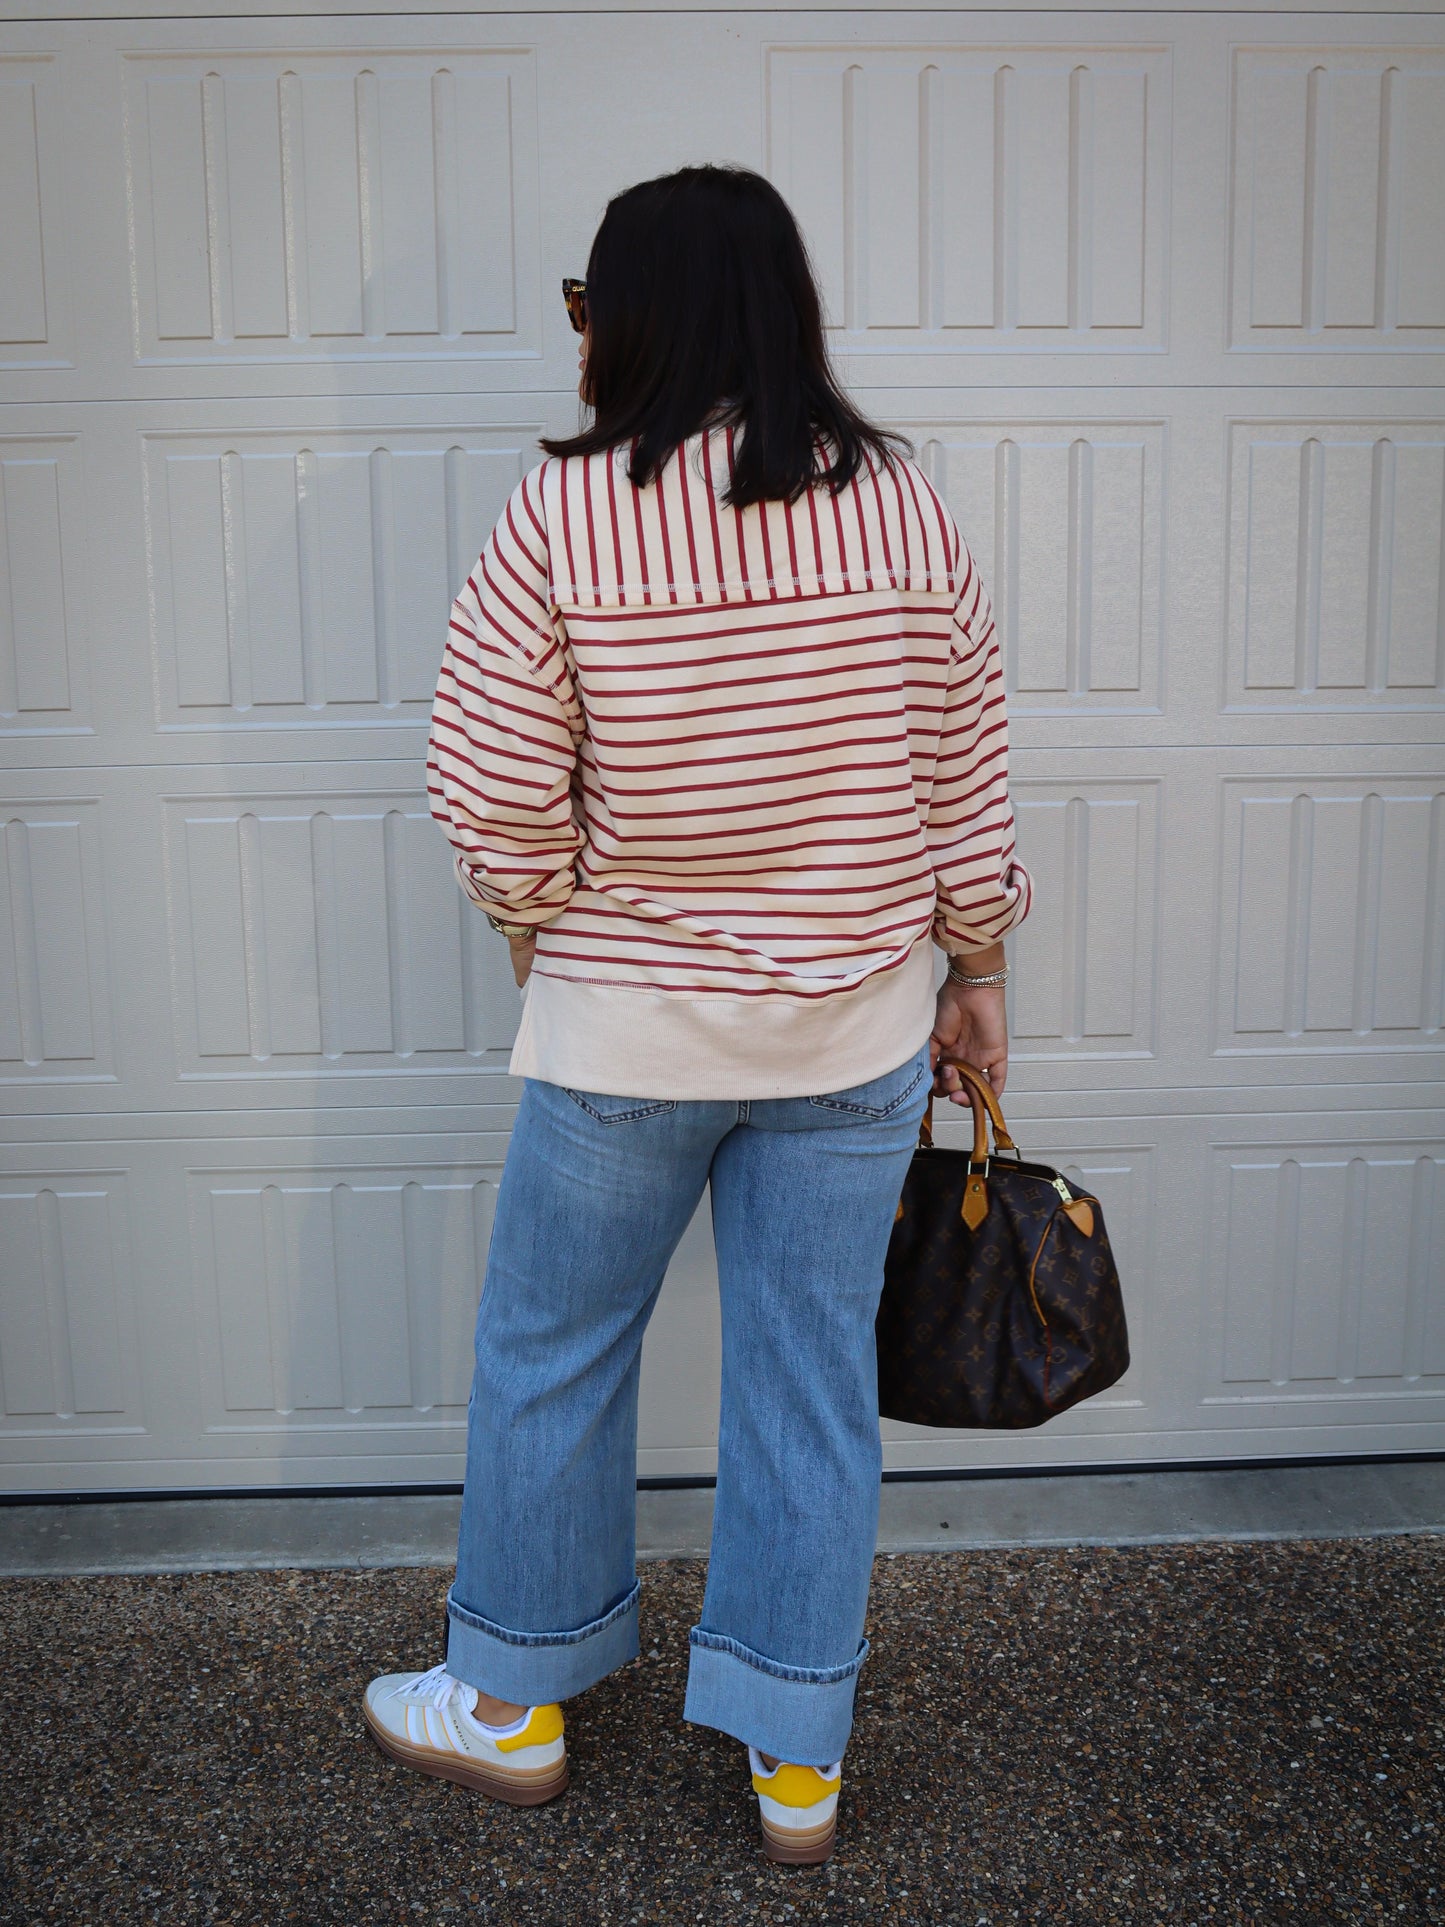
[{"label": "wide-leg blue jeans with large folded cuffs", "polygon": [[711,1183],[722,1411],[684,1715],[842,1757],[879,1530],[873,1320],[929,1083],[927,1044],[821,1096],[526,1081],[476,1318],[457,1678],[541,1705],[636,1657],[642,1333]]}]

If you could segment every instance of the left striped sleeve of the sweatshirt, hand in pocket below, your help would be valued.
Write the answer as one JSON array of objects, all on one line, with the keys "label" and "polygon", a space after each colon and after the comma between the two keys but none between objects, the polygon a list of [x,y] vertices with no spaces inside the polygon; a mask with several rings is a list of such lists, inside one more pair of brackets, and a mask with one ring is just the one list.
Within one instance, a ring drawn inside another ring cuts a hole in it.
[{"label": "left striped sleeve of the sweatshirt, hand in pocket below", "polygon": [[[545,462],[541,464],[545,468]],[[582,709],[551,599],[541,468],[512,489],[451,605],[426,752],[432,815],[466,896],[503,923],[566,908]]]}]

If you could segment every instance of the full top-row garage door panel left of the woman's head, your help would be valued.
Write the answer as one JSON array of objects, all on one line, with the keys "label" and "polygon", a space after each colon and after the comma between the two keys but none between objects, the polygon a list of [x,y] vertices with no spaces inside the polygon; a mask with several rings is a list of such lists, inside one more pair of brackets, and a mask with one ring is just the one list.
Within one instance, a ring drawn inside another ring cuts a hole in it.
[{"label": "full top-row garage door panel left of the woman's head", "polygon": [[121,89],[144,360],[538,353],[530,48],[127,54]]}]

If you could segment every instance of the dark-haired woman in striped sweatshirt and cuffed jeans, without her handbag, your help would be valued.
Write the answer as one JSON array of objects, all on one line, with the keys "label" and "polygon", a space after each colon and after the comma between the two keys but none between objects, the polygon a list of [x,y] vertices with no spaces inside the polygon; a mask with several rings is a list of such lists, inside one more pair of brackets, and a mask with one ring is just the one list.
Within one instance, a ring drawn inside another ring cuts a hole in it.
[{"label": "dark-haired woman in striped sweatshirt and cuffed jeans, without her handbag", "polygon": [[998,644],[946,505],[840,391],[761,175],[618,195],[565,293],[591,426],[514,489],[432,713],[432,811],[526,985],[526,1085],[447,1657],[374,1680],[366,1717],[424,1773],[566,1786],[559,1702],[638,1651],[638,1359],[711,1183],[686,1717],[746,1742],[765,1852],[817,1861],[867,1657],[894,1208],[940,1050],[996,1091],[1008,1068],[1000,938],[1031,883]]}]

